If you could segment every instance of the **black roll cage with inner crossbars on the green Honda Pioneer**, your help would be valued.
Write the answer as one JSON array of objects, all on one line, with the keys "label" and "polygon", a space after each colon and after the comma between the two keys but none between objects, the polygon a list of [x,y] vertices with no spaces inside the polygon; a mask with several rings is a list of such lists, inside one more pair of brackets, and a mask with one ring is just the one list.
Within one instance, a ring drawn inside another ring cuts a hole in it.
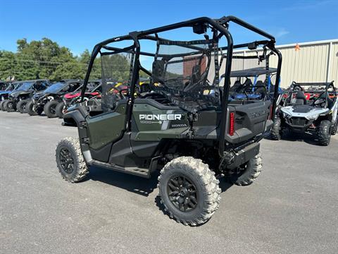
[{"label": "black roll cage with inner crossbars on the green Honda Pioneer", "polygon": [[[239,26],[242,26],[243,28],[246,28],[248,30],[251,30],[252,32],[255,32],[258,35],[261,35],[262,37],[265,37],[267,40],[258,40],[254,42],[249,43],[243,43],[243,44],[234,44],[232,35],[229,31],[229,25],[230,23],[236,23]],[[222,52],[226,51],[226,55],[224,59],[225,62],[225,71],[224,71],[224,85],[223,90],[220,90],[220,107],[221,107],[221,117],[220,117],[220,137],[219,140],[225,139],[225,129],[227,125],[227,107],[228,107],[228,97],[229,97],[229,90],[230,90],[230,73],[232,68],[232,59],[233,59],[233,50],[234,49],[240,49],[247,47],[248,49],[254,50],[257,49],[258,46],[263,47],[263,56],[266,53],[267,49],[270,49],[271,52],[277,54],[278,60],[277,60],[277,74],[276,74],[276,84],[280,83],[280,70],[282,66],[282,54],[275,49],[275,37],[268,34],[267,32],[264,32],[263,30],[256,28],[255,26],[246,23],[244,20],[241,20],[239,18],[236,18],[234,16],[224,16],[223,18],[219,19],[213,19],[213,18],[207,18],[207,17],[201,17],[201,18],[195,18],[192,20],[183,21],[180,23],[174,23],[171,25],[165,25],[162,27],[150,29],[150,30],[144,30],[144,31],[134,31],[130,32],[128,35],[123,35],[120,37],[113,37],[109,40],[105,40],[103,42],[100,42],[99,44],[96,44],[96,46],[93,49],[91,59],[89,61],[88,70],[86,73],[86,76],[84,78],[84,86],[82,87],[81,92],[81,101],[83,101],[84,93],[86,92],[87,83],[89,80],[90,73],[92,71],[92,68],[94,66],[94,60],[96,59],[96,56],[100,53],[101,56],[107,54],[106,52],[101,52],[101,50],[107,50],[114,53],[119,52],[132,52],[133,56],[131,59],[131,67],[130,67],[130,77],[128,80],[128,84],[130,85],[128,87],[128,94],[130,95],[129,98],[127,98],[127,107],[126,107],[126,119],[125,119],[125,130],[131,131],[131,121],[132,121],[132,107],[134,104],[134,93],[135,93],[135,87],[139,80],[139,71],[144,71],[144,73],[148,74],[152,77],[152,73],[146,70],[141,63],[140,63],[140,56],[155,56],[154,53],[149,52],[142,52],[140,47],[140,40],[152,40],[155,42],[168,42],[169,44],[175,44],[174,41],[166,40],[164,38],[158,37],[159,32],[165,32],[169,30],[175,30],[177,28],[185,28],[185,27],[191,27],[193,28],[193,32],[202,35],[204,32],[206,32],[206,28],[211,28],[213,32],[213,38],[212,42],[215,44],[214,46],[214,56],[223,55]],[[221,38],[225,37],[225,40],[227,41],[226,47],[218,47],[217,43]],[[208,38],[206,38],[207,40]],[[111,44],[113,42],[122,42],[124,40],[132,40],[134,44],[130,47],[125,48],[117,48],[117,47],[110,47],[108,44]],[[181,45],[184,45],[182,43]],[[194,49],[194,45],[186,43],[184,47],[187,47],[189,49]],[[199,50],[198,50],[199,52]],[[191,54],[193,55],[193,54]],[[219,82],[219,57],[214,57],[215,62],[215,83],[218,85]],[[223,59],[223,58],[222,58]],[[223,61],[223,60],[220,61]],[[277,102],[277,94],[278,94],[278,85],[275,85],[275,91],[273,96],[273,109],[272,114],[275,114],[275,107]],[[270,116],[271,119],[273,119],[274,116]],[[218,153],[220,157],[224,157],[224,150],[225,150],[225,143],[219,142],[218,146]]]}]

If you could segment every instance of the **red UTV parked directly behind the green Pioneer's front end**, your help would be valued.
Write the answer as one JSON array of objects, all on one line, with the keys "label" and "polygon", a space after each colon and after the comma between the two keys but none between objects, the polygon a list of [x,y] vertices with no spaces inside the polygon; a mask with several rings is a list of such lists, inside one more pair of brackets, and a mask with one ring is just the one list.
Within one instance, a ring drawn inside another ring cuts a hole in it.
[{"label": "red UTV parked directly behind the green Pioneer's front end", "polygon": [[[81,100],[81,87],[77,88],[74,92],[69,92],[68,94],[63,95],[62,102],[59,102],[56,105],[56,115],[60,118],[63,117],[63,114],[68,109],[68,107],[77,104]],[[102,83],[101,80],[90,80],[87,83],[86,92],[84,93],[84,101],[88,101],[93,97],[101,98],[102,92]]]}]

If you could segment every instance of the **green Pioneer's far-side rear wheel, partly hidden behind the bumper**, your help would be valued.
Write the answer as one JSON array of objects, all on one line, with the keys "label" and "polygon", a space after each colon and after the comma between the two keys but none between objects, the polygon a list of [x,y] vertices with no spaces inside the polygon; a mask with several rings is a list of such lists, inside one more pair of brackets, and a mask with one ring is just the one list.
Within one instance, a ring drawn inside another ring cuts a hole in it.
[{"label": "green Pioneer's far-side rear wheel, partly hidden behind the bumper", "polygon": [[262,158],[258,154],[239,167],[237,173],[230,176],[230,181],[237,186],[249,186],[261,174],[262,169]]}]

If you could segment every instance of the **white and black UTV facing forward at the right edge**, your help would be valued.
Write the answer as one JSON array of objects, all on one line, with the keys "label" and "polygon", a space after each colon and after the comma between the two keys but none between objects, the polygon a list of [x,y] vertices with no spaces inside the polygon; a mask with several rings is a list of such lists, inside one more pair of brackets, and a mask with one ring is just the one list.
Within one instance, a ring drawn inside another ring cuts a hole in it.
[{"label": "white and black UTV facing forward at the right edge", "polygon": [[271,138],[280,140],[284,131],[315,133],[320,145],[329,145],[337,133],[337,91],[331,83],[293,82],[277,108]]}]

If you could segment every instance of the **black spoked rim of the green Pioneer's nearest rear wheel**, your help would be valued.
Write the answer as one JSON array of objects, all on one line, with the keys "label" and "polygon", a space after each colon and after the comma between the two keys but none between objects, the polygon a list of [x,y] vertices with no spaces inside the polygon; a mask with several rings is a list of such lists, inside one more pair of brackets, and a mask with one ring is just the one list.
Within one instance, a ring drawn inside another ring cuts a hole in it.
[{"label": "black spoked rim of the green Pioneer's nearest rear wheel", "polygon": [[170,202],[181,212],[191,212],[198,204],[197,190],[187,176],[172,176],[167,185]]}]

